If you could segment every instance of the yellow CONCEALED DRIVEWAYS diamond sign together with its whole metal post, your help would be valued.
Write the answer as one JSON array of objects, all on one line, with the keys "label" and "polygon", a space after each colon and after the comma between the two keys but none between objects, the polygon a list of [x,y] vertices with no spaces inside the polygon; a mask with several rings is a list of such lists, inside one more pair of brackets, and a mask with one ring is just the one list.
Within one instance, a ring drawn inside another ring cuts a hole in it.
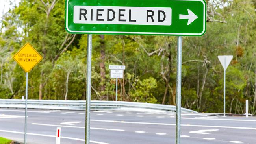
[{"label": "yellow CONCEALED DRIVEWAYS diamond sign together with its whole metal post", "polygon": [[26,72],[26,100],[25,100],[25,127],[24,144],[27,141],[27,105],[28,105],[28,72],[32,70],[43,57],[29,44],[26,43],[14,56],[13,59]]}]

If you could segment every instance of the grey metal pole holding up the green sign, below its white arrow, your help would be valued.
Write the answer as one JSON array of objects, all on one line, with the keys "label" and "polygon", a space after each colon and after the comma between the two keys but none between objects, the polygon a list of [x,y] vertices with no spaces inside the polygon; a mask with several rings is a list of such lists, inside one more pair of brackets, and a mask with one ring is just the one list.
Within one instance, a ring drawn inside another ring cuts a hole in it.
[{"label": "grey metal pole holding up the green sign, below its white arrow", "polygon": [[180,144],[180,107],[181,107],[181,64],[182,37],[178,37],[177,44],[177,88],[176,88],[176,144]]}]

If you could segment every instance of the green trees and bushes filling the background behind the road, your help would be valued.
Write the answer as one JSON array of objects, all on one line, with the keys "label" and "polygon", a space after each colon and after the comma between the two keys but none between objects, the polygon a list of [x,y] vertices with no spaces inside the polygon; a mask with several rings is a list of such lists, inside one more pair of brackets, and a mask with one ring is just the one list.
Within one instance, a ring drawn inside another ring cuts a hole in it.
[{"label": "green trees and bushes filling the background behind the road", "polygon": [[[64,28],[63,0],[21,0],[0,24],[0,98],[21,98],[25,73],[12,60],[26,42],[43,56],[29,73],[28,98],[85,100],[87,35]],[[183,37],[182,107],[223,112],[223,68],[218,55],[233,55],[226,71],[226,111],[256,114],[255,0],[207,0],[207,31]],[[109,65],[126,65],[118,99],[176,104],[173,36],[93,35],[92,100],[115,100]]]}]

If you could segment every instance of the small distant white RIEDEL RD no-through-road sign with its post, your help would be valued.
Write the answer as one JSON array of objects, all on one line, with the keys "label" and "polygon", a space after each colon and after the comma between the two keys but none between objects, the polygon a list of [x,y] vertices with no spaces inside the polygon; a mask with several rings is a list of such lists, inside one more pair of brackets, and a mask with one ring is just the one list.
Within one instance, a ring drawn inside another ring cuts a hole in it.
[{"label": "small distant white RIEDEL RD no-through-road sign with its post", "polygon": [[117,79],[124,78],[125,65],[109,65],[110,78],[115,78],[115,100],[117,101]]}]

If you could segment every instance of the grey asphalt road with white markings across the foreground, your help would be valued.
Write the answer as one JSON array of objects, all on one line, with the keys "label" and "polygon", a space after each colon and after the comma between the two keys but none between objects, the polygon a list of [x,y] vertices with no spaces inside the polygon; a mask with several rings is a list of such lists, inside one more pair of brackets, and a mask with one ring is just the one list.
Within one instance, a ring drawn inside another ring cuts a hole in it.
[{"label": "grey asphalt road with white markings across the foreground", "polygon": [[[182,144],[255,144],[256,117],[182,114]],[[85,111],[28,110],[28,144],[84,144]],[[22,142],[24,109],[0,108],[0,137]],[[175,113],[91,111],[91,144],[175,144]]]}]

